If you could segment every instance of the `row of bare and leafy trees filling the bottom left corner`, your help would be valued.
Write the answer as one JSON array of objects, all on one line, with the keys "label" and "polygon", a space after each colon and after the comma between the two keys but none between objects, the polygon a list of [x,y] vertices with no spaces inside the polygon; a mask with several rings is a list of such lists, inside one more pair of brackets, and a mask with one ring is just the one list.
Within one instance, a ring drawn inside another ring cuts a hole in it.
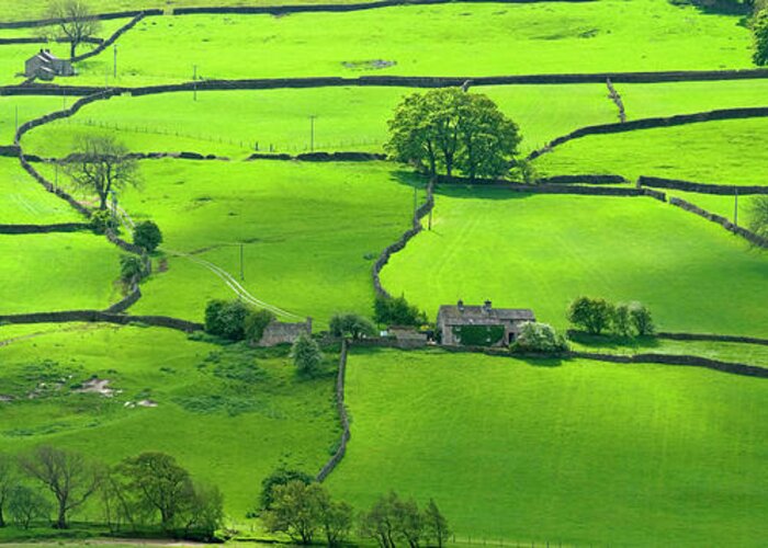
[{"label": "row of bare and leafy trees filling the bottom left corner", "polygon": [[91,500],[113,530],[159,526],[168,534],[212,539],[224,518],[221,491],[194,482],[170,455],[144,453],[106,467],[49,446],[18,458],[0,454],[0,526],[7,515],[26,528],[54,513],[54,526],[65,529],[70,515]]}]

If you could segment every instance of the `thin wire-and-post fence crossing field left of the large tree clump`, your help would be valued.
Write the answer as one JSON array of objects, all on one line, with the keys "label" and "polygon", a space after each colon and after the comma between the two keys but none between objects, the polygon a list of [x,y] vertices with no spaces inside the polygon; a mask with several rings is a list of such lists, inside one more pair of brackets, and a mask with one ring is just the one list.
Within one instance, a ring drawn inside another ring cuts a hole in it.
[{"label": "thin wire-and-post fence crossing field left of the large tree clump", "polygon": [[314,150],[353,150],[359,147],[376,147],[382,146],[383,140],[376,137],[354,137],[349,139],[339,139],[336,141],[315,140],[314,147],[309,142],[285,142],[271,141],[268,139],[251,139],[225,137],[222,135],[213,136],[202,133],[180,132],[179,129],[169,129],[160,126],[143,126],[133,124],[117,124],[114,122],[105,122],[93,118],[81,118],[72,121],[68,118],[65,124],[74,124],[86,127],[98,127],[102,129],[112,129],[116,132],[125,132],[144,135],[158,135],[163,137],[177,137],[190,140],[199,140],[217,145],[228,145],[230,147],[239,147],[244,150],[252,150],[256,152],[308,152]]}]

